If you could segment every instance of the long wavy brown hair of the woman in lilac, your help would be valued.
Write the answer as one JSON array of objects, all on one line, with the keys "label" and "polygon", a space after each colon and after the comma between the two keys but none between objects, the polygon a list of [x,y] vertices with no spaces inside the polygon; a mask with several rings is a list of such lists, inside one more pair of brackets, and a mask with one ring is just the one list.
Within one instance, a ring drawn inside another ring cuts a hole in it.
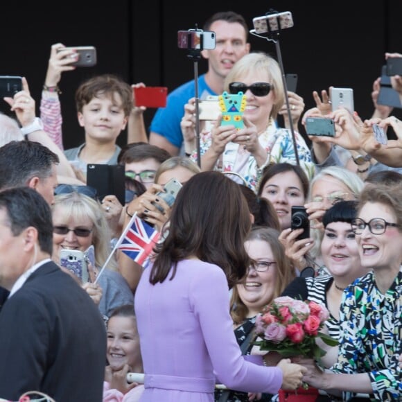
[{"label": "long wavy brown hair of the woman in lilac", "polygon": [[155,248],[150,283],[175,277],[177,263],[189,256],[214,263],[225,272],[229,288],[243,278],[250,258],[245,238],[251,220],[238,184],[220,172],[197,173],[180,190],[168,234]]}]

